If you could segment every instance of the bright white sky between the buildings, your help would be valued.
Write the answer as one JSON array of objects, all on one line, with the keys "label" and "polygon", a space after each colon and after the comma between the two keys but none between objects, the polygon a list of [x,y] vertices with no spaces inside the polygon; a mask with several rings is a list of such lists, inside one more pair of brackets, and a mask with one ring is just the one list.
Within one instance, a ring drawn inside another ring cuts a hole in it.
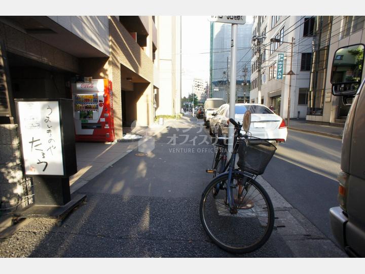
[{"label": "bright white sky between the buildings", "polygon": [[[182,16],[181,25],[181,96],[192,92],[194,79],[209,82],[209,16]],[[252,21],[247,16],[246,21]]]}]

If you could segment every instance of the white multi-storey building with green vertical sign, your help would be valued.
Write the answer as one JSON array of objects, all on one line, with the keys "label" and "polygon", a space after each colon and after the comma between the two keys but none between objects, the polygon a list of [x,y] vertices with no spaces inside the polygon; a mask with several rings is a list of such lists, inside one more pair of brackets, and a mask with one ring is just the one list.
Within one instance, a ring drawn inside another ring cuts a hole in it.
[{"label": "white multi-storey building with green vertical sign", "polygon": [[[260,52],[258,47],[252,50],[251,103],[273,105],[278,115],[287,118],[290,90],[290,118],[306,118],[313,29],[314,16],[254,16],[252,36],[262,38]],[[280,42],[271,42],[271,38]],[[291,56],[290,43],[293,42]],[[278,56],[281,59],[278,60]],[[258,83],[259,62],[261,90]]]}]

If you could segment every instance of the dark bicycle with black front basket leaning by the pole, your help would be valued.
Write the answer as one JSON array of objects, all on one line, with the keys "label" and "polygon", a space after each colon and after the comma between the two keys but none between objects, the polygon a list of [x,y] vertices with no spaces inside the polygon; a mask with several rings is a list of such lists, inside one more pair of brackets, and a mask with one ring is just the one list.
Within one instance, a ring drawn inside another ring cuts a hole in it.
[{"label": "dark bicycle with black front basket leaning by the pole", "polygon": [[[213,243],[228,252],[248,253],[262,247],[274,227],[272,202],[255,179],[264,173],[276,147],[247,133],[242,135],[242,125],[233,119],[230,123],[235,127],[233,151],[222,168],[228,171],[217,176],[214,171],[213,179],[202,193],[199,213]],[[237,153],[238,168],[235,168]]]}]

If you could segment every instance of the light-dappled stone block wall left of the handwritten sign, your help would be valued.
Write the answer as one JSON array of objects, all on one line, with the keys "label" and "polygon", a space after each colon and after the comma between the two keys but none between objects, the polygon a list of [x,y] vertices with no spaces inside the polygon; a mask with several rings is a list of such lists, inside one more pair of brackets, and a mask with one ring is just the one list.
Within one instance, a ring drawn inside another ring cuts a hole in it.
[{"label": "light-dappled stone block wall left of the handwritten sign", "polygon": [[23,199],[31,194],[31,182],[21,167],[21,152],[17,125],[0,125],[0,215],[32,203]]}]

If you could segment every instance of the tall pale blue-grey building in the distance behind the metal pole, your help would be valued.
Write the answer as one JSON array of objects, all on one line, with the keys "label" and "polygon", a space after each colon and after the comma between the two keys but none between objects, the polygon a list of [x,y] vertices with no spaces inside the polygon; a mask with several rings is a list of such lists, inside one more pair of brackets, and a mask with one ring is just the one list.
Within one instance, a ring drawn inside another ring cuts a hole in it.
[{"label": "tall pale blue-grey building in the distance behind the metal pole", "polygon": [[[238,25],[236,101],[249,99],[252,24]],[[228,102],[231,56],[231,24],[211,22],[210,97]]]}]

